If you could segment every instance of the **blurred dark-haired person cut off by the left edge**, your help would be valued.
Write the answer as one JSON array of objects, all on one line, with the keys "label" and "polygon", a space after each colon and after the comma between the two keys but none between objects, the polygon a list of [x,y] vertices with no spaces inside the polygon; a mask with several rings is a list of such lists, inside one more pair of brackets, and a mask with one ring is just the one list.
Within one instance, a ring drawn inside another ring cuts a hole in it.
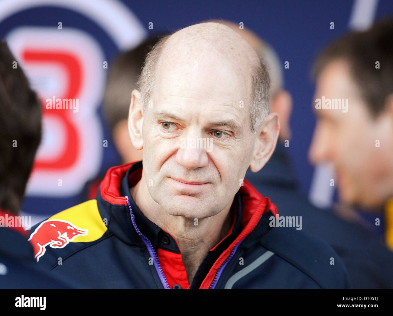
[{"label": "blurred dark-haired person cut off by the left edge", "polygon": [[[0,288],[65,288],[34,260],[28,216],[18,216],[41,140],[41,104],[5,42],[0,42]],[[29,229],[29,227],[27,227]]]}]

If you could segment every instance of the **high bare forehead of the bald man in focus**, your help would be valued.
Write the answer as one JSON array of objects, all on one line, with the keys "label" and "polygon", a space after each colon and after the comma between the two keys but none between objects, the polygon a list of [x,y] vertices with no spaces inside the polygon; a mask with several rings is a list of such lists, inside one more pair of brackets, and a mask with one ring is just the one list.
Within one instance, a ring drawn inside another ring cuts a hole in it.
[{"label": "high bare forehead of the bald man in focus", "polygon": [[[245,41],[226,28],[232,35]],[[248,103],[253,88],[253,56],[247,55],[244,47],[237,49],[235,43],[225,40],[223,44],[219,39],[200,40],[199,37],[200,34],[195,41],[187,39],[178,45],[177,42],[165,45],[156,68],[158,93],[191,99]],[[250,49],[253,50],[251,46]],[[254,57],[257,58],[256,53]]]}]

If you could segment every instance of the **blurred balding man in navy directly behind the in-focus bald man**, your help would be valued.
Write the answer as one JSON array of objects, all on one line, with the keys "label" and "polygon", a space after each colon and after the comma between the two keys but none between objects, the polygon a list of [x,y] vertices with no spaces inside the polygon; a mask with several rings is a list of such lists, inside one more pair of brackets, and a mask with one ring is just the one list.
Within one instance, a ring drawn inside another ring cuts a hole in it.
[{"label": "blurred balding man in navy directly behind the in-focus bald man", "polygon": [[[238,24],[216,21],[242,35],[264,57],[269,67],[272,85],[270,106],[279,113],[279,141],[271,159],[258,173],[248,169],[246,179],[264,196],[275,201],[280,216],[302,216],[303,229],[329,242],[343,259],[351,284],[355,288],[393,287],[391,263],[393,255],[378,244],[367,231],[340,219],[331,210],[313,206],[298,190],[298,184],[288,156],[292,99],[283,88],[283,66],[272,47],[247,28]],[[286,143],[286,145],[285,145]],[[332,143],[334,144],[334,142]],[[393,159],[391,159],[393,160]]]}]

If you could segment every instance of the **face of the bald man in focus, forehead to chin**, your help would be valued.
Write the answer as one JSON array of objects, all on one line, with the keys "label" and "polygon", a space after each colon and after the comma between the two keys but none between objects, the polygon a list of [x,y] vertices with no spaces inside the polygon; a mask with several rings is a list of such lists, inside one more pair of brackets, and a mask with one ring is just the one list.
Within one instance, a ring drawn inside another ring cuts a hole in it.
[{"label": "face of the bald man in focus, forehead to chin", "polygon": [[195,48],[180,49],[164,53],[157,69],[143,118],[143,173],[168,214],[201,219],[231,203],[250,164],[252,82],[247,60],[217,52],[191,58]]}]

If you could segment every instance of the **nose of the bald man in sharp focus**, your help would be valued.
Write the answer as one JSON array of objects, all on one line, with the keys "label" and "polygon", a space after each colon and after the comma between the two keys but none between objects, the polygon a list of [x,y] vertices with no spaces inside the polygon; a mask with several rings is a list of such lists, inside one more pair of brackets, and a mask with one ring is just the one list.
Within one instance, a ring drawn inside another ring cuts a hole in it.
[{"label": "nose of the bald man in sharp focus", "polygon": [[187,136],[181,139],[180,148],[176,153],[176,162],[187,169],[196,169],[208,165],[208,148],[210,139]]}]

